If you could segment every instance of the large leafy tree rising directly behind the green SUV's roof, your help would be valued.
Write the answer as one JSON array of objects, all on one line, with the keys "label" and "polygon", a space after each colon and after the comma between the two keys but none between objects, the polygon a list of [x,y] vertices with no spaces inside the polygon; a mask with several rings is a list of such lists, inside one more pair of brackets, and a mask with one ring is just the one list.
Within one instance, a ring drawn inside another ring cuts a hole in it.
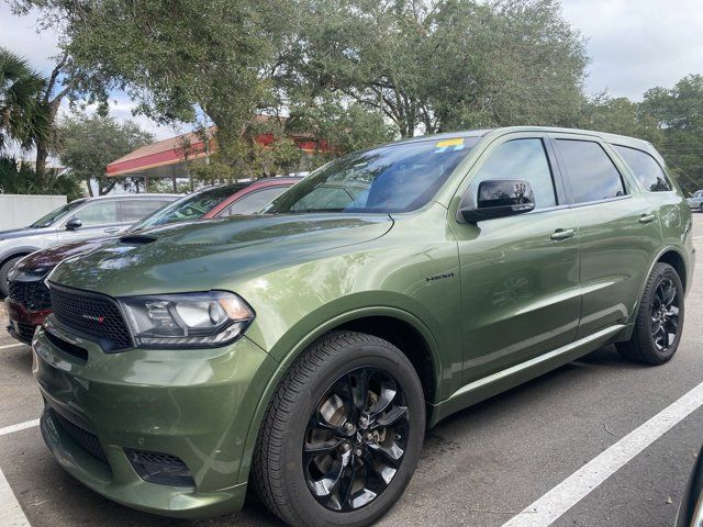
[{"label": "large leafy tree rising directly behind the green SUV's roof", "polygon": [[457,127],[573,124],[583,40],[557,0],[309,0],[280,78],[343,93],[402,136]]}]

